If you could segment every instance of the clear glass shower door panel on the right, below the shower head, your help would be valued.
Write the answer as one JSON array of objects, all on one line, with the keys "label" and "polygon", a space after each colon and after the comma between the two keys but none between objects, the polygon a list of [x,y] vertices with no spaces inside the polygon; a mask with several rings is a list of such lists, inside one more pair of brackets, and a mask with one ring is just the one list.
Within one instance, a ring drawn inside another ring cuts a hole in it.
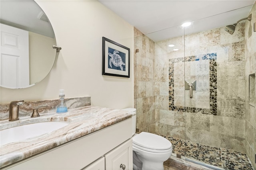
[{"label": "clear glass shower door panel on the right, below the shower head", "polygon": [[[232,11],[227,13],[232,16]],[[236,25],[233,35],[218,24],[192,32],[213,19],[221,22],[224,15],[194,21],[184,31],[184,84],[196,82],[193,92],[185,88],[186,158],[238,169],[248,164],[244,154],[246,21]]]}]

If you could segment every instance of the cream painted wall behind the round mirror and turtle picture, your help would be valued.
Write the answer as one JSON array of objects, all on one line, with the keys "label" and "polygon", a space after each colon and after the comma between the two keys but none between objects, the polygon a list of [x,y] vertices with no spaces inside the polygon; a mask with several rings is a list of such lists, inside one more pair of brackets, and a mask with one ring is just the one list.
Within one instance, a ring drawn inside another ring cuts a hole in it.
[{"label": "cream painted wall behind the round mirror and turtle picture", "polygon": [[[91,96],[93,106],[133,107],[133,26],[98,1],[36,0],[62,47],[50,74],[25,89],[0,88],[1,103],[12,100]],[[130,78],[102,76],[102,36],[130,48]]]}]

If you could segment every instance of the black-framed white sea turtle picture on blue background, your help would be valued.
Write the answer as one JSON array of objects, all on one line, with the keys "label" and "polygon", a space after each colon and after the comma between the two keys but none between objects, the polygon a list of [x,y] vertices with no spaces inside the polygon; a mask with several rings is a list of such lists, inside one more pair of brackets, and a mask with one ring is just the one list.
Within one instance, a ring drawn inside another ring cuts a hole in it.
[{"label": "black-framed white sea turtle picture on blue background", "polygon": [[130,49],[102,37],[102,75],[130,78]]}]

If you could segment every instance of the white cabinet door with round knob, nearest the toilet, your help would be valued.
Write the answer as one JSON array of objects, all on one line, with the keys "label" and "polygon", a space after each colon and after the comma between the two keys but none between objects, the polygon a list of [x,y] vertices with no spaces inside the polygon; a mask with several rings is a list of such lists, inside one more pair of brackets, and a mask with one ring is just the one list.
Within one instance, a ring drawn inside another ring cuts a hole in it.
[{"label": "white cabinet door with round knob, nearest the toilet", "polygon": [[132,139],[105,155],[106,170],[132,170]]}]

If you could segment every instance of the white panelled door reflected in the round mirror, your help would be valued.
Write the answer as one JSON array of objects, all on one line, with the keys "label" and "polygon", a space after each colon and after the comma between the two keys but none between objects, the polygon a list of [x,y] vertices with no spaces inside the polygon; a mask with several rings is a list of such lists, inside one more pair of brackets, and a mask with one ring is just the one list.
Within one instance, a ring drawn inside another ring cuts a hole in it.
[{"label": "white panelled door reflected in the round mirror", "polygon": [[29,86],[28,31],[1,24],[1,86]]}]

